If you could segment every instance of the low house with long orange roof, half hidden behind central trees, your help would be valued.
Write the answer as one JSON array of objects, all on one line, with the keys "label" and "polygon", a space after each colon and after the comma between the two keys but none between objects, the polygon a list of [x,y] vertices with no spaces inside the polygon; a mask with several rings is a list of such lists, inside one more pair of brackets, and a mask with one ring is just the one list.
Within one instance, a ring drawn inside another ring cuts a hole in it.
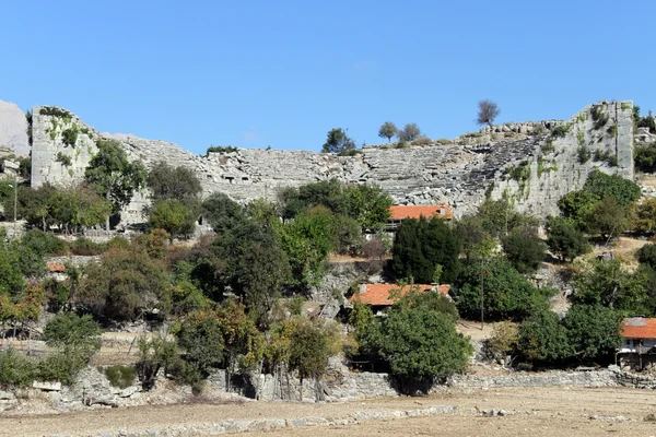
[{"label": "low house with long orange roof, half hidden behind central trees", "polygon": [[[414,284],[412,290],[421,293],[436,291],[442,296],[448,297],[450,285]],[[374,315],[382,316],[385,309],[393,306],[409,292],[410,285],[401,287],[397,284],[361,284],[358,293],[349,298],[349,303],[353,305],[355,302],[360,302],[370,306]]]}]

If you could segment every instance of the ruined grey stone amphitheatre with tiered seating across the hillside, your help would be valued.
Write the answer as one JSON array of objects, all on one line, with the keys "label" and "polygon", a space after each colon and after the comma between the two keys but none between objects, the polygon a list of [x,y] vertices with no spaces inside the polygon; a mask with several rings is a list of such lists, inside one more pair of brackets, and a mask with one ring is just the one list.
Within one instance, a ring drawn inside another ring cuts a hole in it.
[{"label": "ruined grey stone amphitheatre with tiered seating across the hillside", "polygon": [[[633,177],[632,110],[632,102],[599,103],[566,121],[504,125],[452,144],[367,147],[348,157],[253,149],[198,156],[165,141],[116,139],[130,158],[149,167],[164,160],[194,169],[204,196],[223,191],[238,201],[273,200],[282,187],[337,178],[377,184],[399,204],[446,202],[456,216],[473,211],[485,196],[507,196],[518,210],[544,217],[594,168]],[[68,114],[34,108],[34,187],[80,179],[96,152],[99,134]],[[77,132],[73,144],[71,130]],[[140,221],[144,201],[137,196],[125,218]]]}]

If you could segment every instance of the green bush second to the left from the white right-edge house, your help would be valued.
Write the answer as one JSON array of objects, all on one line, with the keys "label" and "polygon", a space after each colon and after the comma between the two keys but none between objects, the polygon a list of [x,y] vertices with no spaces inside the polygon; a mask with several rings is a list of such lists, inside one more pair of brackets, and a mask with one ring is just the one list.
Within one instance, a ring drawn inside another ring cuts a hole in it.
[{"label": "green bush second to the left from the white right-edge house", "polygon": [[558,316],[542,310],[519,324],[519,351],[529,362],[559,362],[570,357],[573,347]]}]

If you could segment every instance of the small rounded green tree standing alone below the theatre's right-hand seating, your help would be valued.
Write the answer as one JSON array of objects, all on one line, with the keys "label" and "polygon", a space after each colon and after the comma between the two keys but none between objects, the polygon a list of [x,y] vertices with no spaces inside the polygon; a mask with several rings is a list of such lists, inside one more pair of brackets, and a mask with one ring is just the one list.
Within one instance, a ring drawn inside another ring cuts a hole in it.
[{"label": "small rounded green tree standing alone below the theatre's right-hand seating", "polygon": [[535,227],[513,229],[502,239],[503,251],[519,273],[535,273],[547,255],[547,245],[538,237]]}]

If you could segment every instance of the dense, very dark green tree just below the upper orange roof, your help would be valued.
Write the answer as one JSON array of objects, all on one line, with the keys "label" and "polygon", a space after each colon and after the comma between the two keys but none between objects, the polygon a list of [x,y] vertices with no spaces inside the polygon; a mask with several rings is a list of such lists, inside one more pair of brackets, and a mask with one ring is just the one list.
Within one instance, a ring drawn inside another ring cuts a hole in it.
[{"label": "dense, very dark green tree just below the upper orange roof", "polygon": [[445,221],[409,218],[397,231],[391,248],[391,267],[397,277],[431,283],[440,264],[444,269],[443,280],[448,283],[458,274],[459,255],[458,234]]}]

